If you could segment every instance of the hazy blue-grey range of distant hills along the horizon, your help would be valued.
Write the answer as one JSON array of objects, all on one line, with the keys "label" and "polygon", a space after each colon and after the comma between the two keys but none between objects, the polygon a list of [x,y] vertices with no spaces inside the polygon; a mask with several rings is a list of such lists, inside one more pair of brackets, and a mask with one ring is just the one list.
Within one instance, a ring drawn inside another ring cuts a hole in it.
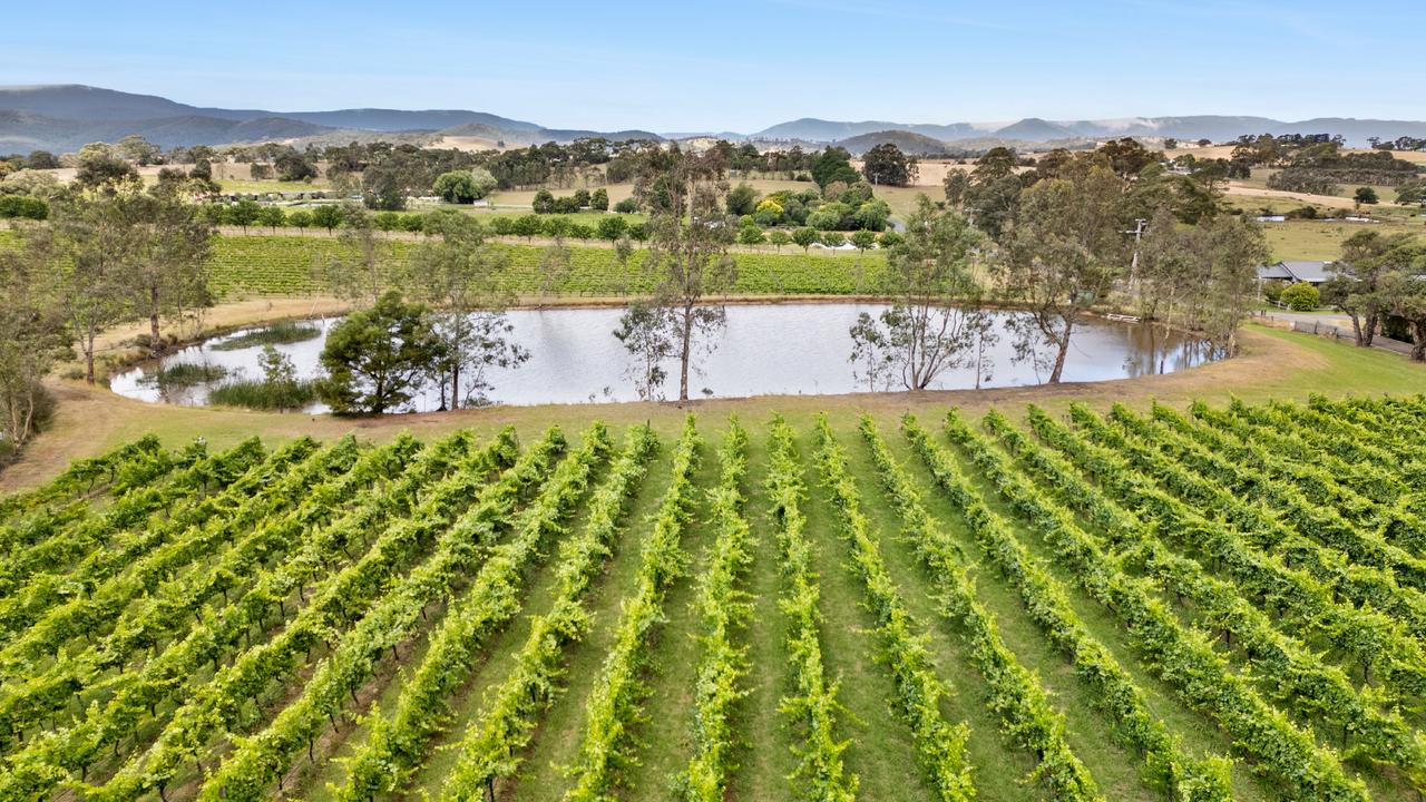
[{"label": "hazy blue-grey range of distant hills along the horizon", "polygon": [[[896,123],[888,120],[838,121],[803,117],[753,134],[659,134],[646,130],[593,131],[546,128],[488,111],[459,108],[398,110],[339,108],[334,111],[268,111],[188,106],[151,94],[134,94],[80,84],[0,87],[0,153],[34,148],[73,151],[91,141],[117,141],[140,134],[164,147],[231,144],[301,138],[332,141],[342,136],[366,138],[371,133],[402,137],[453,136],[489,138],[509,144],[570,141],[603,136],[627,138],[702,138],[733,141],[843,143],[866,150],[877,141],[897,141],[914,153],[960,153],[1011,143],[1082,143],[1112,137],[1174,137],[1228,141],[1242,134],[1340,134],[1349,144],[1366,146],[1370,137],[1393,140],[1426,136],[1426,121],[1356,120],[1315,117],[1282,121],[1269,117],[1199,114],[1188,117],[1124,117],[1115,120],[1042,120],[1027,117],[1001,123]],[[896,134],[896,140],[887,140]],[[867,138],[871,137],[871,138]],[[881,137],[880,140],[877,137]]]}]

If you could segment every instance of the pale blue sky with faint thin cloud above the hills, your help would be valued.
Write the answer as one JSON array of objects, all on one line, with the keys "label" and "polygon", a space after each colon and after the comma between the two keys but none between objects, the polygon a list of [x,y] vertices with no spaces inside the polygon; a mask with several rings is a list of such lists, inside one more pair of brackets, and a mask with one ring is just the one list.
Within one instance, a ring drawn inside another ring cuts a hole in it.
[{"label": "pale blue sky with faint thin cloud above the hills", "polygon": [[0,84],[550,127],[1426,118],[1420,0],[53,1],[9,7],[0,41]]}]

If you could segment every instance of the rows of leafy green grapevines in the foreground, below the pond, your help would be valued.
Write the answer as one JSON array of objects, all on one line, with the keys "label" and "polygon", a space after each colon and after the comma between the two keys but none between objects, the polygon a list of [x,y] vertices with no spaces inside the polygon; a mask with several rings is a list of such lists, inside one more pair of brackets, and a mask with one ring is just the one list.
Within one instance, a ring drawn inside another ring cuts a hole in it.
[{"label": "rows of leafy green grapevines in the foreground, below the pond", "polygon": [[0,801],[1415,799],[1423,454],[1419,397],[143,438],[0,498]]}]

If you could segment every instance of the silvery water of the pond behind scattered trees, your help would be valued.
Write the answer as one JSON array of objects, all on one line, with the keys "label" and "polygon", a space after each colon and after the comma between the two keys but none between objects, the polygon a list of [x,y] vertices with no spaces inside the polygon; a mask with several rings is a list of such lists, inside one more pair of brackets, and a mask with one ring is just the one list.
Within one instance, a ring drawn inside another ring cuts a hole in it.
[{"label": "silvery water of the pond behind scattered trees", "polygon": [[[703,357],[702,371],[689,380],[690,395],[736,398],[770,394],[841,394],[866,391],[857,382],[848,357],[848,328],[863,311],[877,314],[881,304],[747,304],[727,307],[727,327],[717,335],[717,348]],[[578,404],[636,401],[626,375],[632,358],[615,338],[622,308],[513,310],[509,321],[513,340],[530,352],[529,361],[512,370],[492,368],[489,400],[495,404]],[[1000,341],[987,350],[991,378],[983,387],[1040,384],[1048,374],[1032,364],[1014,361],[1012,337],[1004,330],[1014,311],[995,313]],[[298,375],[319,375],[318,355],[337,320],[314,321],[321,335],[277,345],[291,357]],[[251,331],[251,330],[248,330]],[[188,387],[158,387],[154,374],[178,364],[220,365],[228,377],[261,378],[261,347],[214,348],[241,337],[232,333],[190,345],[158,362],[147,362],[116,375],[110,388],[143,401],[202,405],[214,381]],[[1094,318],[1075,328],[1064,381],[1105,381],[1148,374],[1174,372],[1214,360],[1208,342],[1144,324]],[[667,365],[666,395],[677,395],[677,364]],[[220,380],[221,381],[221,380]],[[974,368],[950,370],[935,382],[937,390],[975,387]],[[436,388],[424,391],[415,411],[439,408]],[[309,412],[325,411],[314,405]]]}]

